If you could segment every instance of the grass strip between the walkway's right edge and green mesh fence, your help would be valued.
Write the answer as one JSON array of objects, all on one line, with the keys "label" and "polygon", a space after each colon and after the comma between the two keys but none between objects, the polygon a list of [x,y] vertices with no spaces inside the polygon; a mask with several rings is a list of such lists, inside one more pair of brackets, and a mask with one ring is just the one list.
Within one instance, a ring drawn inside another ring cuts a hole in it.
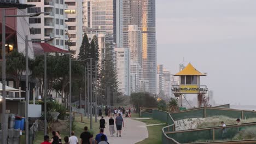
[{"label": "grass strip between the walkway's right edge and green mesh fence", "polygon": [[[146,124],[159,124],[162,123],[156,119],[136,119],[136,121],[141,121]],[[162,127],[166,125],[156,125],[147,127],[148,129],[148,139],[145,139],[137,144],[161,144],[162,143]]]}]

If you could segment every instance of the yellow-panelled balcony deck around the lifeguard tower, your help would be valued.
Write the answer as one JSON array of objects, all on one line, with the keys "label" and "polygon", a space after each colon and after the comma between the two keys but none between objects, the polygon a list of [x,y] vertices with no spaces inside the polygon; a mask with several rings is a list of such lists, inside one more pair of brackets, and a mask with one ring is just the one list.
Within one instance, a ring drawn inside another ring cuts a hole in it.
[{"label": "yellow-panelled balcony deck around the lifeguard tower", "polygon": [[173,85],[172,93],[175,94],[205,94],[208,91],[206,85]]}]

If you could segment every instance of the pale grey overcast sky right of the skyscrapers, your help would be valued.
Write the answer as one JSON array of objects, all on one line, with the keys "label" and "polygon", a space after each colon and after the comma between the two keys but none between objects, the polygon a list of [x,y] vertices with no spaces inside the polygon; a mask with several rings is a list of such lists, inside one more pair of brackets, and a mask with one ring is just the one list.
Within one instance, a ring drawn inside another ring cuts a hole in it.
[{"label": "pale grey overcast sky right of the skyscrapers", "polygon": [[256,105],[256,1],[156,0],[158,64],[191,62],[218,103]]}]

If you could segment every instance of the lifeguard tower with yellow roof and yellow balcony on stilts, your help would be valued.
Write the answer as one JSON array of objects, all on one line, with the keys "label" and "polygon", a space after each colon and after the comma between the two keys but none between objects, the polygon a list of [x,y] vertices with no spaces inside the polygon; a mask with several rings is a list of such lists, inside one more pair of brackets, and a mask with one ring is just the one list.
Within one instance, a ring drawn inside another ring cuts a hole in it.
[{"label": "lifeguard tower with yellow roof and yellow balcony on stilts", "polygon": [[200,76],[206,76],[206,74],[200,73],[189,63],[187,67],[174,76],[179,76],[179,85],[172,86],[172,93],[180,99],[180,103],[182,104],[182,95],[197,94],[198,107],[201,107],[208,88],[205,85],[200,85]]}]

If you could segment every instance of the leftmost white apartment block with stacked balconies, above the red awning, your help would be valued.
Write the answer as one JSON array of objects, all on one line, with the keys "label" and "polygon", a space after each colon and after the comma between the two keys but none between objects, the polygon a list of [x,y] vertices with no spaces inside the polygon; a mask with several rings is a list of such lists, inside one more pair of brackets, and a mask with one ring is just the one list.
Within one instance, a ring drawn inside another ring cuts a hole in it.
[{"label": "leftmost white apartment block with stacked balconies, above the red awning", "polygon": [[68,17],[65,14],[67,5],[64,3],[64,0],[28,0],[27,3],[36,5],[36,7],[27,8],[28,14],[39,12],[49,13],[29,18],[31,39],[44,40],[50,39],[50,37],[59,37],[47,43],[60,49],[68,49],[68,46],[65,45],[65,41],[67,40],[65,31],[68,28],[65,20],[68,20]]}]

